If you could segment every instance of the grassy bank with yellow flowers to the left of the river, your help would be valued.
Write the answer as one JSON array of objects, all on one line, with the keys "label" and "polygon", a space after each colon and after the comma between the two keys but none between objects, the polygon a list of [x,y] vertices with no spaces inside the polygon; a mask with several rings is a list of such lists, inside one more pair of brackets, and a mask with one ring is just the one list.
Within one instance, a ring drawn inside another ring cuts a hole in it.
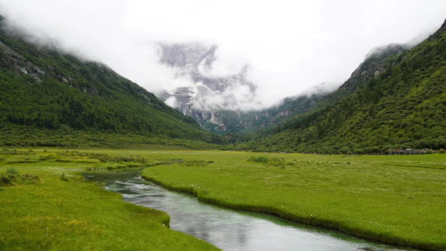
[{"label": "grassy bank with yellow flowers to the left of the river", "polygon": [[123,202],[79,175],[158,161],[108,152],[0,150],[0,173],[19,172],[13,184],[0,184],[0,250],[217,250],[167,228],[165,212]]}]

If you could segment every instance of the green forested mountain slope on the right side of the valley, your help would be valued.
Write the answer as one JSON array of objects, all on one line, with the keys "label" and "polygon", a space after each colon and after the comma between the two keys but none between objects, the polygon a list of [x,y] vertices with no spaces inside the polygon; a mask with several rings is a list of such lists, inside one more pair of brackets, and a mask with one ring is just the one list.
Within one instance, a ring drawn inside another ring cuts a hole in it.
[{"label": "green forested mountain slope on the right side of the valley", "polygon": [[[390,53],[383,68],[352,78],[311,111],[280,123],[270,137],[236,150],[321,153],[381,152],[390,148],[445,148],[446,21],[429,39],[402,54]],[[361,66],[360,66],[361,67]],[[361,75],[361,74],[360,74]]]}]

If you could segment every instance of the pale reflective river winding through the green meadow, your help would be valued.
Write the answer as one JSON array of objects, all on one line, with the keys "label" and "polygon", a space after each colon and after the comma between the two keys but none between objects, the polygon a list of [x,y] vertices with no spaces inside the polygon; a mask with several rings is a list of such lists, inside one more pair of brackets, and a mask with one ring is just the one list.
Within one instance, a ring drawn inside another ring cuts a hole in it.
[{"label": "pale reflective river winding through the green meadow", "polygon": [[378,251],[413,250],[374,242],[339,231],[301,224],[276,216],[228,209],[169,191],[141,179],[141,172],[88,172],[90,181],[106,183],[106,189],[123,200],[165,211],[170,228],[205,240],[222,250]]}]

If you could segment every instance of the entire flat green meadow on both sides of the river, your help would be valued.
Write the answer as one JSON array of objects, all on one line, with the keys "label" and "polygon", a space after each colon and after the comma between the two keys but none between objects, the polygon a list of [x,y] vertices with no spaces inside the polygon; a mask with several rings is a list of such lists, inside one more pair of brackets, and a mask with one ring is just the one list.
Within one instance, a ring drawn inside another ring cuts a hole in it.
[{"label": "entire flat green meadow on both sides of the river", "polygon": [[123,202],[80,175],[128,168],[145,168],[146,179],[201,201],[446,249],[446,154],[6,150],[0,150],[0,250],[216,249],[170,230],[166,213]]}]

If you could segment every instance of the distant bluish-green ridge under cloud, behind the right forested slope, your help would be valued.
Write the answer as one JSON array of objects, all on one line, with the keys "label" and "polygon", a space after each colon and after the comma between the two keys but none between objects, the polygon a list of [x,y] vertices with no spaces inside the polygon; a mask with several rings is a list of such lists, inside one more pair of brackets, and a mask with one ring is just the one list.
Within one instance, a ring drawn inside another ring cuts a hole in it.
[{"label": "distant bluish-green ridge under cloud, behind the right forested slope", "polygon": [[[230,135],[238,138],[243,138],[240,134],[255,132],[268,135],[274,126],[286,119],[306,113],[316,106],[326,106],[352,94],[358,85],[384,71],[388,63],[387,58],[392,55],[400,55],[410,48],[411,46],[407,44],[390,44],[371,50],[365,60],[351,74],[351,77],[335,92],[326,92],[321,88],[321,90],[310,94],[286,98],[278,105],[260,111],[216,111],[214,113],[215,123],[207,122],[203,127],[220,135],[238,134],[238,136]],[[262,133],[262,131],[265,132]]]}]

